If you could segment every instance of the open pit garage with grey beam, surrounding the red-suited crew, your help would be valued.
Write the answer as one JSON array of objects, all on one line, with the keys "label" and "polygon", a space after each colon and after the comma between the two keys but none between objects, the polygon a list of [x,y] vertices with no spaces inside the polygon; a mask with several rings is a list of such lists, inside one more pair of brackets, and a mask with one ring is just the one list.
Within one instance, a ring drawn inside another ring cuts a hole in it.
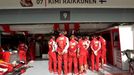
[{"label": "open pit garage with grey beam, surrounding the red-suited crew", "polygon": [[28,7],[20,4],[15,6],[15,2],[11,1],[0,1],[1,47],[17,50],[20,41],[29,45],[30,40],[34,40],[35,62],[29,63],[34,67],[28,69],[24,75],[45,72],[50,75],[48,41],[51,35],[58,36],[64,30],[68,37],[72,33],[89,38],[94,34],[101,34],[106,39],[108,66],[96,73],[89,70],[87,75],[128,74],[128,59],[121,51],[134,48],[134,1],[89,0],[89,5],[60,0],[32,1],[33,6]]}]

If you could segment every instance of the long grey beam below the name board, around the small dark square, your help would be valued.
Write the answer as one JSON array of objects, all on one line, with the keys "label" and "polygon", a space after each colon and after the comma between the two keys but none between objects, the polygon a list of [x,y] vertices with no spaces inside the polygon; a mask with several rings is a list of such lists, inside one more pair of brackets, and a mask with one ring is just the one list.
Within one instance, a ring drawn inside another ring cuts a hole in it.
[{"label": "long grey beam below the name board, around the small dark square", "polygon": [[[70,20],[60,20],[60,11],[70,11]],[[134,22],[134,9],[0,10],[0,24],[56,22]]]}]

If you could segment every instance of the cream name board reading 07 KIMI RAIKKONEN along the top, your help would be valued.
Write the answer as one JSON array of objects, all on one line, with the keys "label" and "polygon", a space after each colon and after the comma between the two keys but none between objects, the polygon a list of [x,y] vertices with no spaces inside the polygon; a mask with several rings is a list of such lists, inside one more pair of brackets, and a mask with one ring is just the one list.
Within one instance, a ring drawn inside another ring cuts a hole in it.
[{"label": "cream name board reading 07 KIMI RAIKKONEN along the top", "polygon": [[0,0],[0,9],[134,8],[134,0]]}]

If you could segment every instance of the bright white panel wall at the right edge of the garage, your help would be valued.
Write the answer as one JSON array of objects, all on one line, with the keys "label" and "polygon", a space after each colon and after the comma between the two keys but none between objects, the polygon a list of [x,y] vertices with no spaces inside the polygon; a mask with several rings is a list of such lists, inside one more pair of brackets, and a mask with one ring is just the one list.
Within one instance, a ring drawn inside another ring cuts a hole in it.
[{"label": "bright white panel wall at the right edge of the garage", "polygon": [[[126,49],[131,49],[133,50],[133,30],[132,26],[120,26],[119,27],[119,34],[120,34],[120,46],[121,46],[121,51],[126,50]],[[126,55],[121,54],[122,57],[122,69],[123,70],[128,70],[128,59]]]}]

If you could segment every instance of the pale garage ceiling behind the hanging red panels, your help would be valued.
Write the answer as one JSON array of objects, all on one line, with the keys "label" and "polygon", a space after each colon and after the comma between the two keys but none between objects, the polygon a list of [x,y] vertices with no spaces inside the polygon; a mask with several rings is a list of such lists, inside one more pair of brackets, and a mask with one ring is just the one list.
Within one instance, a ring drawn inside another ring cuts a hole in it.
[{"label": "pale garage ceiling behind the hanging red panels", "polygon": [[[80,32],[95,32],[108,27],[111,23],[81,23]],[[60,30],[64,30],[64,24],[59,24]],[[74,24],[69,24],[70,30],[74,29]],[[11,25],[11,31],[28,31],[30,34],[46,34],[53,32],[53,24],[27,24],[27,25]]]}]

